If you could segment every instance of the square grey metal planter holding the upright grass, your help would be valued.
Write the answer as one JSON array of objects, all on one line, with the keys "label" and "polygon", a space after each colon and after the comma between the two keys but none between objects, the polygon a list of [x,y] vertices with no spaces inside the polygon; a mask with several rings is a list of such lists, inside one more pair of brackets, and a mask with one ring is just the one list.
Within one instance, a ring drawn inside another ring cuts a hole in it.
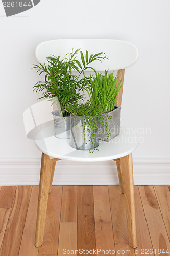
[{"label": "square grey metal planter holding the upright grass", "polygon": [[109,117],[112,117],[109,121],[107,118],[108,129],[110,129],[109,137],[106,135],[107,131],[104,127],[104,131],[102,132],[101,123],[99,120],[99,139],[104,141],[109,141],[120,133],[120,113],[121,106],[115,106],[114,110],[108,113]]}]

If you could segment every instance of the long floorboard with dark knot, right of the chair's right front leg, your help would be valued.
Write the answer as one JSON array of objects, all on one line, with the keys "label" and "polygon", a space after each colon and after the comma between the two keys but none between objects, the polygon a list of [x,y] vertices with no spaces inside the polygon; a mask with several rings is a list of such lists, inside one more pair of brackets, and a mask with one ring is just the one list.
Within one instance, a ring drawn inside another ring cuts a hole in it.
[{"label": "long floorboard with dark knot, right of the chair's right front leg", "polygon": [[155,255],[169,255],[158,253],[158,249],[164,249],[165,251],[169,249],[170,242],[168,240],[154,188],[153,186],[139,186],[139,191],[149,227],[153,249],[156,250]]}]

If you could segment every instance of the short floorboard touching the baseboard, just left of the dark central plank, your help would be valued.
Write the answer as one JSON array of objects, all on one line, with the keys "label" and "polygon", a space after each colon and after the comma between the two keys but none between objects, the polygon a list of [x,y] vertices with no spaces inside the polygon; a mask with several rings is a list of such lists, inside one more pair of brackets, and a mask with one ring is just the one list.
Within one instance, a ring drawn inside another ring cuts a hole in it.
[{"label": "short floorboard touching the baseboard, just left of the dark central plank", "polygon": [[77,222],[78,186],[63,186],[61,222]]}]

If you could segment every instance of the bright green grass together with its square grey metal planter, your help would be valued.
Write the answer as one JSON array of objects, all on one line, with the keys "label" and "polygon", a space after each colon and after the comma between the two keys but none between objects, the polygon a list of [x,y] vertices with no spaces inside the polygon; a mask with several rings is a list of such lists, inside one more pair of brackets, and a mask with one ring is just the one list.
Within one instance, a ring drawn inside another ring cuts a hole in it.
[{"label": "bright green grass together with its square grey metal planter", "polygon": [[[96,73],[90,77],[88,84],[88,94],[91,102],[96,106],[101,106],[107,116],[107,125],[101,127],[101,120],[99,121],[99,138],[101,140],[109,141],[120,132],[120,106],[115,106],[116,96],[122,87],[121,81],[117,84],[118,77],[105,70],[104,74]],[[107,134],[109,129],[110,134]]]}]

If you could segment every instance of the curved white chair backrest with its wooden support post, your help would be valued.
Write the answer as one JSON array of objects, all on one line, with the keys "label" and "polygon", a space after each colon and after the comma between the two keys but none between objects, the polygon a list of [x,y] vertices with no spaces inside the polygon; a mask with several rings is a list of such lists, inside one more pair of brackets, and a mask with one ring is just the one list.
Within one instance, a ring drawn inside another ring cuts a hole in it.
[{"label": "curved white chair backrest with its wooden support post", "polygon": [[[93,62],[92,67],[96,71],[118,70],[118,83],[124,82],[125,68],[132,66],[138,59],[138,49],[130,42],[112,40],[112,39],[58,39],[52,41],[41,42],[36,48],[36,58],[38,62],[45,63],[46,57],[50,55],[64,57],[66,53],[70,53],[72,48],[77,50],[81,48],[85,53],[88,50],[89,54],[104,52],[109,60]],[[122,102],[122,89],[117,96],[116,105],[120,106]]]}]

